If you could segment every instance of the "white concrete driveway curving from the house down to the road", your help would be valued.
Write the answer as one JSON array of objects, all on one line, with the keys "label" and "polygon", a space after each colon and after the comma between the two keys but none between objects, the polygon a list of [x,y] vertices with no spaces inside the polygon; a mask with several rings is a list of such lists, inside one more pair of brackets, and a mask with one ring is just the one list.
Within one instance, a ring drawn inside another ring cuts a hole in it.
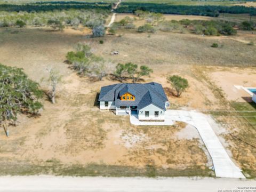
[{"label": "white concrete driveway curving from the house down to the road", "polygon": [[172,125],[173,121],[181,121],[193,125],[199,132],[209,154],[211,155],[216,177],[245,178],[241,169],[237,167],[222,146],[211,125],[202,113],[185,110],[167,110],[163,122],[139,122],[131,115],[131,123],[135,125]]}]

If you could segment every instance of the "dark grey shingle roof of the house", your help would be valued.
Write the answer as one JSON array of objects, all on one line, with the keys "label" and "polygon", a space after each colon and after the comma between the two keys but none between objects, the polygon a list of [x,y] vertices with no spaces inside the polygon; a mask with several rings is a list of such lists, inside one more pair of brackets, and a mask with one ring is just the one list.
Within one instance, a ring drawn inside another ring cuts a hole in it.
[{"label": "dark grey shingle roof of the house", "polygon": [[[135,101],[121,101],[120,96],[129,92],[135,96]],[[137,106],[144,108],[151,103],[165,109],[167,97],[159,83],[119,83],[101,87],[99,101],[115,101],[117,107]]]}]

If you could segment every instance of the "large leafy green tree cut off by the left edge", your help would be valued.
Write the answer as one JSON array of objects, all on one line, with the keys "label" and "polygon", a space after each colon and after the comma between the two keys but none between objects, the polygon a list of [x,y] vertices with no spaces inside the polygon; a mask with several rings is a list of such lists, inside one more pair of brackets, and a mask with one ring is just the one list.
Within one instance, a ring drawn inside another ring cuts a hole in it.
[{"label": "large leafy green tree cut off by the left edge", "polygon": [[0,64],[0,125],[7,132],[7,125],[17,121],[20,113],[36,115],[43,107],[39,99],[43,92],[20,68]]}]

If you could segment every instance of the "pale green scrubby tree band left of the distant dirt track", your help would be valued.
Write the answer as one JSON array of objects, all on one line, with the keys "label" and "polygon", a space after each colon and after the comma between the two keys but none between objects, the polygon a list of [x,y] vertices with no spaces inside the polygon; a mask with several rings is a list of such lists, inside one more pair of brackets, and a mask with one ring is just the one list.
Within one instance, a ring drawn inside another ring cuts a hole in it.
[{"label": "pale green scrubby tree band left of the distant dirt track", "polygon": [[65,10],[41,12],[0,12],[0,27],[46,26],[62,29],[65,26],[77,28],[79,25],[93,28],[103,25],[109,11]]}]

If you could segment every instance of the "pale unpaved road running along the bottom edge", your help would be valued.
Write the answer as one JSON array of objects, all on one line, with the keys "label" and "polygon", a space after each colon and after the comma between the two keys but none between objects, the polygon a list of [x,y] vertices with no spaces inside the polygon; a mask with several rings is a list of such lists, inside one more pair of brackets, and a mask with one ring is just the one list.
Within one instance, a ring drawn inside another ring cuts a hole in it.
[{"label": "pale unpaved road running along the bottom edge", "polygon": [[214,178],[0,177],[0,191],[214,191],[256,187],[255,180]]}]

